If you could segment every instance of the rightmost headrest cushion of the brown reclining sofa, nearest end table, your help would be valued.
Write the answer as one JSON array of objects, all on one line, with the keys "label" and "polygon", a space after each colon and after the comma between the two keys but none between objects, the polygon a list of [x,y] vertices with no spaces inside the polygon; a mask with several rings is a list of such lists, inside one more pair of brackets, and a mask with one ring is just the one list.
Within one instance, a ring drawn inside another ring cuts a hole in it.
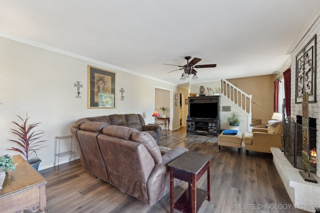
[{"label": "rightmost headrest cushion of the brown reclining sofa, nearest end table", "polygon": [[162,163],[162,156],[154,138],[147,132],[132,132],[132,141],[141,143],[149,151],[155,165]]}]

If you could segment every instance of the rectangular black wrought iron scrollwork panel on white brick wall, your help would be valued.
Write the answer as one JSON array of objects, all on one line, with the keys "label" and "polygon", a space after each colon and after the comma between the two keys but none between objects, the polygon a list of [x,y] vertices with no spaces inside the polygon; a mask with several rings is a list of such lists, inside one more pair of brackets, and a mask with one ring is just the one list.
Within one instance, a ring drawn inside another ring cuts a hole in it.
[{"label": "rectangular black wrought iron scrollwork panel on white brick wall", "polygon": [[316,91],[316,34],[295,57],[295,103],[302,102],[304,92],[308,102],[315,102]]}]

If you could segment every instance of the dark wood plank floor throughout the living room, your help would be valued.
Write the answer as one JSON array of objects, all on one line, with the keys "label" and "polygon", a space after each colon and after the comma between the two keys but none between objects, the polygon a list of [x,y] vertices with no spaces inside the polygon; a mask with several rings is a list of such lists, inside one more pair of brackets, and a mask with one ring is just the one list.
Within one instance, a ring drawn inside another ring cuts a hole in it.
[{"label": "dark wood plank floor throughout the living room", "polygon": [[[211,201],[204,201],[199,213],[305,213],[295,210],[272,162],[272,155],[244,148],[222,147],[217,138],[185,133],[185,128],[161,136],[160,146],[184,146],[191,151],[212,155]],[[49,213],[168,213],[169,193],[153,206],[121,193],[115,187],[88,174],[79,160],[60,165],[60,170],[40,171],[47,180],[46,202]],[[197,183],[206,189],[206,175]],[[175,187],[175,199],[187,188]],[[175,213],[178,211],[175,210]]]}]

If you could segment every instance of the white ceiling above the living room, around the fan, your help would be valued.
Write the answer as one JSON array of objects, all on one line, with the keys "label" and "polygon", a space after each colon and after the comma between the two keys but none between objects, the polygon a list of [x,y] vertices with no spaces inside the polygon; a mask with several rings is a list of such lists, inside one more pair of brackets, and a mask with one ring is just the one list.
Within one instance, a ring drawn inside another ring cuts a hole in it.
[{"label": "white ceiling above the living room, around the fan", "polygon": [[184,56],[203,82],[277,73],[314,21],[320,0],[0,0],[0,36],[21,38],[179,81]]}]

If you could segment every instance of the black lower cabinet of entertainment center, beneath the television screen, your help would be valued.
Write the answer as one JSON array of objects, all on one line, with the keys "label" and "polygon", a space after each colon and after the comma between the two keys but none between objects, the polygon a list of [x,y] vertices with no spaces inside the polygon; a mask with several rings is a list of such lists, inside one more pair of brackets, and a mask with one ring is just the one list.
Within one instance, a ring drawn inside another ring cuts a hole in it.
[{"label": "black lower cabinet of entertainment center, beneath the television screen", "polygon": [[220,121],[205,119],[188,119],[186,120],[186,132],[197,135],[218,136]]}]

